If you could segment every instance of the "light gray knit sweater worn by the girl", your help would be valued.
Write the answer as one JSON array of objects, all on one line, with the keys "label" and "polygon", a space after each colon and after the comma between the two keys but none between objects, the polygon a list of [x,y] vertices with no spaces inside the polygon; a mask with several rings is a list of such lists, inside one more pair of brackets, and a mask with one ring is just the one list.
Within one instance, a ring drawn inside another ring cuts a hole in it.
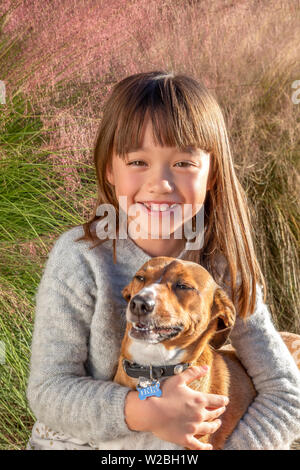
[{"label": "light gray knit sweater worn by the girl", "polygon": [[[130,388],[112,380],[126,325],[121,291],[151,257],[132,239],[117,240],[114,264],[112,240],[89,250],[74,241],[82,234],[78,226],[57,239],[37,291],[27,388],[37,422],[28,448],[91,450],[136,433],[124,418]],[[255,312],[237,319],[231,342],[258,395],[226,450],[287,449],[300,436],[300,373],[257,287]]]}]

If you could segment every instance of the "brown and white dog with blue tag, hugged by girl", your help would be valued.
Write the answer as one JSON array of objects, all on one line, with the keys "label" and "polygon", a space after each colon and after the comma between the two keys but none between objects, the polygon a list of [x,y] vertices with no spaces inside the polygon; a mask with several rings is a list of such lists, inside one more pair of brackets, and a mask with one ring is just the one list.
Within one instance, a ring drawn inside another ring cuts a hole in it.
[{"label": "brown and white dog with blue tag, hugged by girl", "polygon": [[[143,386],[139,377],[162,382],[191,365],[209,365],[206,375],[188,386],[228,396],[221,427],[213,434],[197,436],[212,444],[214,450],[222,449],[256,396],[252,380],[234,349],[230,345],[222,348],[235,323],[232,301],[201,265],[165,256],[146,262],[122,295],[128,302],[127,325],[114,381],[134,390],[140,385],[140,398],[145,399],[147,393],[155,395],[161,391],[155,386]],[[300,336],[283,333],[282,337],[292,354],[292,345],[296,345],[299,367]],[[99,449],[185,448],[151,432],[140,432],[105,442]]]}]

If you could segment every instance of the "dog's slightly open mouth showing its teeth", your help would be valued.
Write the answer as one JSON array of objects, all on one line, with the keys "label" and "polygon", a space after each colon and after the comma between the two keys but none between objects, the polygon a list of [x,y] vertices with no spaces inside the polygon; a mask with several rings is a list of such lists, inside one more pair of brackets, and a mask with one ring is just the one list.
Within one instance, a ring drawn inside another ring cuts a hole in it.
[{"label": "dog's slightly open mouth showing its teeth", "polygon": [[134,339],[159,342],[177,336],[183,325],[156,325],[146,322],[132,322],[129,336]]}]

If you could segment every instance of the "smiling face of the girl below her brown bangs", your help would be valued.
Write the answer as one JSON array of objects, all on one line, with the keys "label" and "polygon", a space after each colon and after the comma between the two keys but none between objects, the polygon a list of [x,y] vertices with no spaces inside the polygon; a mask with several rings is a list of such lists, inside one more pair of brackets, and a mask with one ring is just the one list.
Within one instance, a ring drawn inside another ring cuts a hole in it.
[{"label": "smiling face of the girl below her brown bangs", "polygon": [[[144,127],[141,149],[130,151],[125,161],[113,153],[106,176],[127,214],[128,228],[131,223],[139,227],[132,237],[138,246],[151,256],[172,256],[183,249],[183,236],[175,239],[174,232],[203,205],[209,169],[210,154],[201,149],[156,146],[151,120]],[[125,203],[120,196],[127,197]],[[185,204],[190,212],[185,212]]]}]

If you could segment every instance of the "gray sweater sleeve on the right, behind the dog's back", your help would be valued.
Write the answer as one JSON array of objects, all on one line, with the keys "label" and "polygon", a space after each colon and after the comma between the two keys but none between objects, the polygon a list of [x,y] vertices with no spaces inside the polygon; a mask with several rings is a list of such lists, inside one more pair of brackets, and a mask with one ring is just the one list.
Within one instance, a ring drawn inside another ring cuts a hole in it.
[{"label": "gray sweater sleeve on the right, behind the dog's back", "polygon": [[257,396],[224,450],[288,449],[300,436],[300,373],[272,323],[258,284],[255,311],[246,321],[237,319],[231,343]]}]

